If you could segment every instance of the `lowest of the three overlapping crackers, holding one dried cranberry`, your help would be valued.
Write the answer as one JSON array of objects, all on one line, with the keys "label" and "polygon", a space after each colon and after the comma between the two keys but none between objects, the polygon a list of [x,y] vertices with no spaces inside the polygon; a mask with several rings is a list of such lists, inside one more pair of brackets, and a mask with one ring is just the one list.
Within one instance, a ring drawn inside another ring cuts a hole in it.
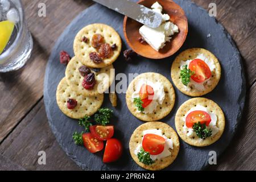
[{"label": "lowest of the three overlapping crackers, holding one dried cranberry", "polygon": [[[77,101],[75,109],[68,109],[67,100],[69,98],[73,98]],[[80,119],[85,115],[93,115],[100,109],[104,100],[104,94],[92,97],[85,97],[81,94],[77,94],[71,89],[71,86],[68,85],[66,78],[64,77],[57,86],[56,100],[57,105],[65,115],[73,119]]]}]

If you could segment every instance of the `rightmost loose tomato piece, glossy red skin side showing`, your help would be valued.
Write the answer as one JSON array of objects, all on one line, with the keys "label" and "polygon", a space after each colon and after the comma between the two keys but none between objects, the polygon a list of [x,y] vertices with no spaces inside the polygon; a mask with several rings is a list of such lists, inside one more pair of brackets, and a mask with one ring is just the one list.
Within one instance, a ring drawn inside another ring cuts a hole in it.
[{"label": "rightmost loose tomato piece, glossy red skin side showing", "polygon": [[122,155],[123,147],[118,139],[112,138],[107,140],[103,156],[104,163],[111,163],[119,159]]}]

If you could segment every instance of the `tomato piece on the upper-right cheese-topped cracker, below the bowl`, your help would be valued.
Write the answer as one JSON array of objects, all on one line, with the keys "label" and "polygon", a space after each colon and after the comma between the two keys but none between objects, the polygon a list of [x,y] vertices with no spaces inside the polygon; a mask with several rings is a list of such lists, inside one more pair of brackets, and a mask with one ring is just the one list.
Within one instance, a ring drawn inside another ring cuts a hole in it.
[{"label": "tomato piece on the upper-right cheese-topped cracker, below the bowl", "polygon": [[192,72],[195,72],[195,74],[192,75],[191,78],[198,83],[201,83],[207,80],[210,76],[212,76],[210,68],[201,59],[194,59],[193,61],[191,61],[191,63],[189,64],[189,69]]}]

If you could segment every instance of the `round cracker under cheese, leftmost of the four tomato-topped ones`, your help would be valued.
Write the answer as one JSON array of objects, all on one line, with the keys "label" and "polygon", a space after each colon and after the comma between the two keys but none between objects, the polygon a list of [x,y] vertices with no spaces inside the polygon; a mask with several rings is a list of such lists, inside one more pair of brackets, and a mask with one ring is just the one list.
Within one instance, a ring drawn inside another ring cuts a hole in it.
[{"label": "round cracker under cheese, leftmost of the four tomato-topped ones", "polygon": [[[162,82],[164,86],[164,92],[166,93],[166,96],[164,98],[163,104],[158,105],[156,107],[156,110],[152,114],[144,114],[137,111],[137,107],[132,102],[131,96],[133,92],[135,91],[135,85],[137,81],[140,79],[146,79],[151,82]],[[162,119],[168,115],[172,108],[174,107],[175,103],[175,92],[174,88],[171,84],[171,82],[164,77],[163,75],[160,75],[159,73],[142,73],[141,75],[134,78],[133,81],[131,81],[130,85],[128,86],[127,92],[126,92],[126,104],[128,109],[130,110],[131,114],[133,114],[138,119],[141,119],[142,121],[158,121],[159,119]]]}]

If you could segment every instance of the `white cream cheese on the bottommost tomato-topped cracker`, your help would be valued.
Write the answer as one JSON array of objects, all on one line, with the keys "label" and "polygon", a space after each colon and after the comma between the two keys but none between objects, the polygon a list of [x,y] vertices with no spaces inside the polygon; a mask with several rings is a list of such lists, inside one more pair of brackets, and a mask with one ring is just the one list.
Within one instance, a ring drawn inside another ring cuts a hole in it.
[{"label": "white cream cheese on the bottommost tomato-topped cracker", "polygon": [[[163,137],[164,139],[166,139],[166,143],[164,144],[163,152],[161,154],[158,154],[158,155],[150,155],[150,158],[152,160],[163,159],[163,158],[166,158],[166,157],[168,157],[172,154],[170,152],[170,149],[174,149],[174,144],[172,142],[172,139],[169,139],[165,135],[163,135],[162,130],[157,130],[157,129],[144,130],[143,131],[143,137],[146,134],[155,134],[155,135],[159,135],[159,136]],[[142,148],[142,143],[139,143],[138,146],[134,150],[134,154],[137,155],[138,152],[141,150],[141,148]]]}]

